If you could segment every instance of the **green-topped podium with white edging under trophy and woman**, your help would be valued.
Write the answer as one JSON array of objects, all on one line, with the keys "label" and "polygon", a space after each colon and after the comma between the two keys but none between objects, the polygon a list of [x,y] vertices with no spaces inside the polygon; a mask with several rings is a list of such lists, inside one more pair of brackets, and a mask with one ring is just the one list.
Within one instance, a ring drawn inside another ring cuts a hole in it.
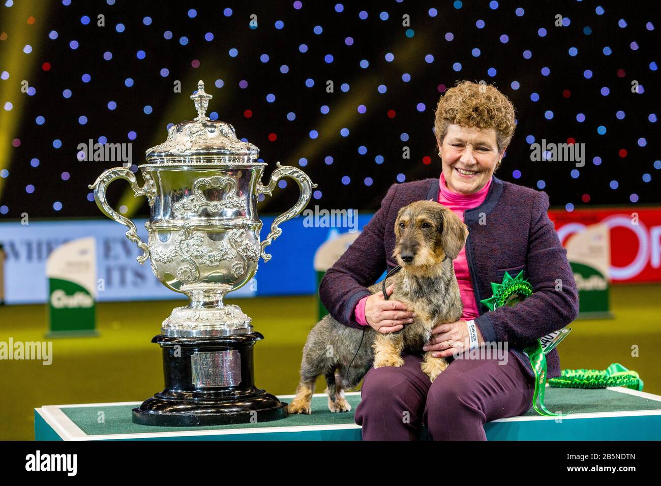
[{"label": "green-topped podium with white edging under trophy and woman", "polygon": [[[293,395],[279,395],[289,402]],[[361,440],[354,411],[360,391],[346,393],[347,413],[331,413],[327,397],[316,393],[311,415],[274,422],[208,427],[154,427],[131,422],[141,402],[46,405],[34,409],[36,440]],[[520,417],[486,423],[488,440],[660,440],[661,396],[623,387],[566,389],[547,386],[550,411],[568,417],[541,417],[530,409]]]}]

